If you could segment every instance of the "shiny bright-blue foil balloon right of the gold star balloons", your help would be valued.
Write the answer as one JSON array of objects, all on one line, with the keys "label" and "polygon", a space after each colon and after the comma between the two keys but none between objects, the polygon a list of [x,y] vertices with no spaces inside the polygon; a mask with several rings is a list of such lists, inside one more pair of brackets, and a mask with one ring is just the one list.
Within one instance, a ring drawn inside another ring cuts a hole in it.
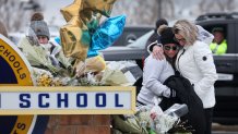
[{"label": "shiny bright-blue foil balloon right of the gold star balloons", "polygon": [[122,34],[126,15],[109,17],[93,34],[87,57],[95,57],[98,50],[110,47]]}]

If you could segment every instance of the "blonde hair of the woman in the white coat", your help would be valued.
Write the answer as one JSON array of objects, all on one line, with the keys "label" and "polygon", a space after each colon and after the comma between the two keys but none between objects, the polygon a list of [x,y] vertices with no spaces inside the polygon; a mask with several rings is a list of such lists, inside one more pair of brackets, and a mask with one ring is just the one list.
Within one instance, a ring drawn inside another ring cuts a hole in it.
[{"label": "blonde hair of the woman in the white coat", "polygon": [[194,23],[188,20],[179,20],[175,23],[172,27],[174,34],[179,34],[183,36],[187,45],[193,45],[198,39],[198,28]]}]

